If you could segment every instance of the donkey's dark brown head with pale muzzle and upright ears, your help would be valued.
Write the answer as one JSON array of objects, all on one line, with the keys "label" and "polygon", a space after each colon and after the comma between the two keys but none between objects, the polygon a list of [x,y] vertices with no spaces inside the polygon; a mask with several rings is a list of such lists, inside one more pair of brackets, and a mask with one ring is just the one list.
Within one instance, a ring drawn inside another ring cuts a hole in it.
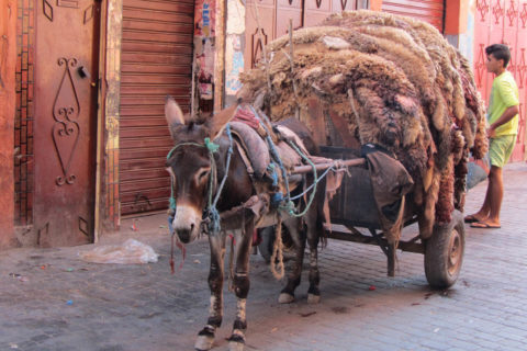
[{"label": "donkey's dark brown head with pale muzzle and upright ears", "polygon": [[232,106],[198,122],[183,115],[176,100],[167,97],[165,116],[175,141],[167,158],[176,204],[172,227],[183,244],[198,238],[208,205],[212,165],[205,138],[216,139],[235,111],[236,106]]}]

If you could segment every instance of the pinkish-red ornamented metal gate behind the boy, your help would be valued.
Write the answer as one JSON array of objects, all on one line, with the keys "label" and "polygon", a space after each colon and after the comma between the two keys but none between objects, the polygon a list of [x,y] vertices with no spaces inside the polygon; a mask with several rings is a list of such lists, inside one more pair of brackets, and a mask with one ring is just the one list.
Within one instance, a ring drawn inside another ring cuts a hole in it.
[{"label": "pinkish-red ornamented metal gate behind the boy", "polygon": [[489,103],[493,76],[486,72],[485,47],[503,43],[511,48],[508,70],[514,75],[519,91],[519,129],[511,157],[523,160],[525,154],[525,118],[527,95],[527,1],[478,0],[474,27],[474,76],[478,89]]}]

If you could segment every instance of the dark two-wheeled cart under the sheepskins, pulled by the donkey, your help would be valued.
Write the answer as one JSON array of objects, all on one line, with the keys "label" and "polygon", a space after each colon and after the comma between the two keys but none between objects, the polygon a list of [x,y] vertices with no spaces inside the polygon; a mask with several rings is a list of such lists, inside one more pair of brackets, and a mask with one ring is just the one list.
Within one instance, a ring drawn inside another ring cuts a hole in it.
[{"label": "dark two-wheeled cart under the sheepskins, pulled by the donkey", "polygon": [[[321,147],[322,156],[350,160],[358,159],[358,150],[344,147]],[[332,239],[355,241],[379,246],[388,258],[388,274],[395,275],[395,251],[423,253],[425,274],[430,286],[446,288],[453,285],[461,270],[464,253],[463,216],[455,211],[450,223],[435,225],[430,238],[423,239],[416,234],[410,240],[401,240],[395,247],[383,237],[377,205],[373,199],[370,174],[366,163],[349,167],[351,177],[345,177],[336,196],[330,202]],[[407,201],[406,204],[412,202]],[[404,208],[404,226],[417,222],[415,208]],[[270,259],[274,229],[261,230],[260,253]],[[287,242],[287,239],[285,239]]]}]

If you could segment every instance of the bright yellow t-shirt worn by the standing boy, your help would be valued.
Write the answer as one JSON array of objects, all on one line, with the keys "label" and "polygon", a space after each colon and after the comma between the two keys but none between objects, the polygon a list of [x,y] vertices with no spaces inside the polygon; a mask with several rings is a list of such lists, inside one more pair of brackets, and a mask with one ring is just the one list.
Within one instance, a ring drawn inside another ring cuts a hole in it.
[{"label": "bright yellow t-shirt worn by the standing boy", "polygon": [[[513,75],[506,70],[492,82],[491,101],[486,118],[489,124],[502,116],[507,107],[519,105],[518,87]],[[496,128],[496,136],[518,134],[518,115]]]}]

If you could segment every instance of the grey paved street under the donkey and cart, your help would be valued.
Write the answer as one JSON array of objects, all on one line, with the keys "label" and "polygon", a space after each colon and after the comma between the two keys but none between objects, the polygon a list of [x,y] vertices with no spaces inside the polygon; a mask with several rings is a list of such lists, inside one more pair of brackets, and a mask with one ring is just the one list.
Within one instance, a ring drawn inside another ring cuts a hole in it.
[{"label": "grey paved street under the donkey and cart", "polygon": [[[396,276],[389,278],[378,247],[330,240],[319,258],[321,303],[307,305],[304,271],[298,301],[279,305],[283,282],[253,256],[246,349],[526,350],[527,165],[507,166],[505,181],[502,229],[467,226],[461,275],[448,291],[428,287],[422,254],[397,252]],[[468,193],[467,213],[485,188]],[[136,231],[132,225],[123,220],[123,230],[100,245],[136,238],[161,254],[159,262],[78,258],[93,246],[0,252],[0,350],[192,350],[209,307],[208,244],[189,246],[171,275],[166,216],[138,218]],[[177,265],[180,259],[178,251]],[[213,350],[227,349],[236,304],[225,296]]]}]

